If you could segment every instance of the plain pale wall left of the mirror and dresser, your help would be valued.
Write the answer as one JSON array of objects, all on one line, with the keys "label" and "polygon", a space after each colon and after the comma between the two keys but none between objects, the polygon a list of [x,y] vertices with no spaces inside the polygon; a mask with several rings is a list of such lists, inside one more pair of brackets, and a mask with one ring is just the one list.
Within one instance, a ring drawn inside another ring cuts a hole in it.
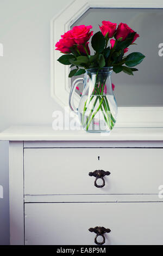
[{"label": "plain pale wall left of the mirror and dresser", "polygon": [[[12,124],[51,124],[50,21],[71,0],[0,0],[0,131]],[[9,243],[8,142],[0,142],[0,245]]]}]

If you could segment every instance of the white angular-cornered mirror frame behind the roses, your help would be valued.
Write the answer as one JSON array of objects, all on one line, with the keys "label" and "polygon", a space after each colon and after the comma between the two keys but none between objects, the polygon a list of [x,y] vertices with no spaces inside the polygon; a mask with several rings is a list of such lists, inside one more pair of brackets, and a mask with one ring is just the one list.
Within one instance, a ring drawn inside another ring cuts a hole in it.
[{"label": "white angular-cornered mirror frame behind the roses", "polygon": [[[90,8],[163,8],[162,0],[74,0],[51,21],[51,96],[63,108],[68,106],[71,79],[68,78],[70,67],[61,65],[57,59],[61,56],[55,51],[55,43],[61,34]],[[163,43],[163,42],[160,42]],[[158,48],[159,50],[159,48]],[[162,57],[163,58],[163,57]],[[74,95],[74,104],[80,97]],[[127,117],[127,118],[126,118]],[[124,121],[126,120],[127,121]],[[116,127],[163,127],[163,106],[119,107]]]}]

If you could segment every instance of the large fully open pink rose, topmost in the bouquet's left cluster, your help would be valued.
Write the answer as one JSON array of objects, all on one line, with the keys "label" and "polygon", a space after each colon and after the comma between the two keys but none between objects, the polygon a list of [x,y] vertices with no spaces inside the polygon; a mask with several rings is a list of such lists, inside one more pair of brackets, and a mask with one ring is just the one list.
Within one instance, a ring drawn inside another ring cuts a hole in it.
[{"label": "large fully open pink rose, topmost in the bouquet's left cluster", "polygon": [[93,31],[90,32],[92,26],[75,26],[71,31],[71,39],[74,39],[76,44],[85,44],[93,35]]}]

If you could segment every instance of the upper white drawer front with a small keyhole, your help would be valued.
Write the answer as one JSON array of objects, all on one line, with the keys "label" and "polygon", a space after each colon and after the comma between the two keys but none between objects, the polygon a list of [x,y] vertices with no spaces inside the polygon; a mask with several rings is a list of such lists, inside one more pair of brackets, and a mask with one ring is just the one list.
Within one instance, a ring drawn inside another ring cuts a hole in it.
[{"label": "upper white drawer front with a small keyhole", "polygon": [[[25,194],[158,194],[162,156],[162,148],[25,148]],[[102,188],[95,170],[110,172]]]}]

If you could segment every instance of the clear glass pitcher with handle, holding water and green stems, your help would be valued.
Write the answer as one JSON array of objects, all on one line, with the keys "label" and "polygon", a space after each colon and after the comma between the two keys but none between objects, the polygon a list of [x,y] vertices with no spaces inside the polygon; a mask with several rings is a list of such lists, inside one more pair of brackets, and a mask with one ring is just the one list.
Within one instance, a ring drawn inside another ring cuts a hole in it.
[{"label": "clear glass pitcher with handle, holding water and green stems", "polygon": [[[109,133],[115,126],[117,103],[111,83],[112,67],[87,69],[84,80],[74,80],[69,98],[71,110],[79,116],[80,123],[86,132]],[[76,87],[84,83],[82,97],[76,108],[73,94]]]}]

